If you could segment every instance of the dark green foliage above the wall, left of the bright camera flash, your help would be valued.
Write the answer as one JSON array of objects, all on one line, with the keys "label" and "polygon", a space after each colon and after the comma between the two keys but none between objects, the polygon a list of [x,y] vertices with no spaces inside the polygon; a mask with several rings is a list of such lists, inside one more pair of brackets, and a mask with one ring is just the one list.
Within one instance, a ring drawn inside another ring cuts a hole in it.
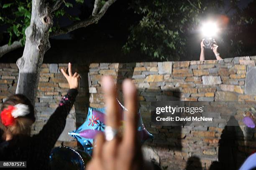
[{"label": "dark green foliage above the wall, left of the bright camera flash", "polygon": [[[245,21],[251,22],[248,16],[241,18],[243,13],[238,7],[238,0],[230,0],[229,3],[230,9],[225,10],[224,0],[133,0],[131,7],[141,15],[141,20],[131,26],[131,34],[123,50],[127,53],[137,48],[152,58],[179,60],[186,55],[189,33],[196,32],[200,22],[210,15],[227,15],[235,10],[230,23],[243,25]],[[226,31],[225,36],[233,33]],[[237,40],[236,45],[239,43]]]}]

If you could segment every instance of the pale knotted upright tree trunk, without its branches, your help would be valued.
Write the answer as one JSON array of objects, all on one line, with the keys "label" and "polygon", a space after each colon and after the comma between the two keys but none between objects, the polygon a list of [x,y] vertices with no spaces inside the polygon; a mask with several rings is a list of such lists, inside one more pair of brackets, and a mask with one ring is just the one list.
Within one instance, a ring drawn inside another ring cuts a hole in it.
[{"label": "pale knotted upright tree trunk, without its branches", "polygon": [[31,23],[26,29],[23,56],[17,60],[19,79],[16,94],[26,95],[35,104],[44,54],[50,48],[49,29],[53,25],[46,0],[33,0]]}]

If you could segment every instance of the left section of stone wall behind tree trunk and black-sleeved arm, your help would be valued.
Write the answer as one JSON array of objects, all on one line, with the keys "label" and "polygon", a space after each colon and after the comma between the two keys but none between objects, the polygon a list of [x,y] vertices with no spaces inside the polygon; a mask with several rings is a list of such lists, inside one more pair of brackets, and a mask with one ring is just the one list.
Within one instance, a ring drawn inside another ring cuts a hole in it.
[{"label": "left section of stone wall behind tree trunk and black-sleeved arm", "polygon": [[[38,84],[36,97],[36,123],[33,125],[32,134],[38,133],[49,116],[59,104],[62,95],[66,95],[69,85],[60,72],[61,68],[67,68],[67,64],[43,64]],[[84,122],[89,105],[89,91],[87,70],[84,65],[73,65],[74,71],[82,75],[79,95],[76,103],[67,118],[64,132],[56,145],[77,146],[77,141],[69,137],[67,132],[74,130]],[[15,63],[0,64],[0,105],[10,95],[15,94],[18,82],[18,67]],[[53,129],[54,130],[54,129]]]}]

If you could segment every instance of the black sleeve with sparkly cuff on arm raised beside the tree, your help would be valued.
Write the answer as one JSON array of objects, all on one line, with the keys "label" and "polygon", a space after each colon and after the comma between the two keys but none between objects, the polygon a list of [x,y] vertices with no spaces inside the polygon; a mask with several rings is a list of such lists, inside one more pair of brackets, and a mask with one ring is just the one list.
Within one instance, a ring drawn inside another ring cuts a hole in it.
[{"label": "black sleeve with sparkly cuff on arm raised beside the tree", "polygon": [[61,98],[59,107],[57,107],[54,113],[49,117],[43,129],[33,137],[38,141],[47,141],[46,143],[48,143],[49,148],[53,148],[65,128],[67,115],[74,105],[77,94],[78,91],[76,89],[70,89],[67,95]]}]

